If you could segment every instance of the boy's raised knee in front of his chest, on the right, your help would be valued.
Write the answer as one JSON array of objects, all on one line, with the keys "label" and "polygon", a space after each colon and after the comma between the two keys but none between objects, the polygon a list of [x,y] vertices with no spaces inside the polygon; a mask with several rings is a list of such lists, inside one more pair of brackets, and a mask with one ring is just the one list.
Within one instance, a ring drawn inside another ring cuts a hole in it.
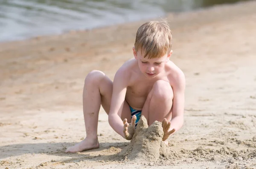
[{"label": "boy's raised knee in front of his chest, on the right", "polygon": [[159,100],[173,99],[171,85],[164,80],[157,80],[153,85],[153,96]]}]

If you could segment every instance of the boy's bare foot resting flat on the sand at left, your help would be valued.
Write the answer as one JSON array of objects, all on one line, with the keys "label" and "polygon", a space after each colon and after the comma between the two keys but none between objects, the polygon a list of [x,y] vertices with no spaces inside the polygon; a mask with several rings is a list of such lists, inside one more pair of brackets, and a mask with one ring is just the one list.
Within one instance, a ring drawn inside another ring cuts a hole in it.
[{"label": "boy's bare foot resting flat on the sand at left", "polygon": [[98,138],[96,140],[95,139],[90,140],[90,139],[85,138],[80,143],[78,143],[74,146],[68,147],[65,152],[82,152],[85,150],[97,149],[97,148],[99,148]]}]

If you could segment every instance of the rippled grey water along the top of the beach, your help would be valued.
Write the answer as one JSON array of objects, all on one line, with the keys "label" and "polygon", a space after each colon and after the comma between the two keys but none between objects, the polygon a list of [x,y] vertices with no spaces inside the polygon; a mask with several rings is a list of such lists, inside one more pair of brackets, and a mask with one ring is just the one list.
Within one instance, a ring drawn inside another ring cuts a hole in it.
[{"label": "rippled grey water along the top of the beach", "polygon": [[246,0],[0,0],[0,41],[61,34]]}]

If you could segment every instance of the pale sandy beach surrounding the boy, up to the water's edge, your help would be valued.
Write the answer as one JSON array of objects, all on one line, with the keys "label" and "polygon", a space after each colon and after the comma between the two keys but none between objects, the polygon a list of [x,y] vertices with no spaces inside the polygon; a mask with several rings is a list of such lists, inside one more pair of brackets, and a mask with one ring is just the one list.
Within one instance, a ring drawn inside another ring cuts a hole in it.
[{"label": "pale sandy beach surrounding the boy, up to the water's edge", "polygon": [[185,121],[167,139],[169,151],[149,162],[116,157],[131,143],[103,109],[100,148],[64,153],[86,136],[85,76],[97,69],[113,79],[144,21],[1,43],[0,169],[255,169],[255,9],[251,1],[167,16],[171,59],[186,76]]}]

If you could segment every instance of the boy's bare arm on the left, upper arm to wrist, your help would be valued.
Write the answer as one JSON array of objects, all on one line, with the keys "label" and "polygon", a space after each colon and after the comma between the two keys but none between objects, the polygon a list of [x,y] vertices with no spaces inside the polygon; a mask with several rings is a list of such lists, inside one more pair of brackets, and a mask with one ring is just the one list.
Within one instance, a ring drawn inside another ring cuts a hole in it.
[{"label": "boy's bare arm on the left, upper arm to wrist", "polygon": [[[123,121],[119,117],[122,114],[122,109],[125,101],[125,94],[127,90],[127,72],[122,68],[116,72],[113,80],[113,93],[111,99],[110,111],[108,114],[108,123],[119,135],[125,138],[123,133]],[[119,115],[118,115],[119,114]]]}]

